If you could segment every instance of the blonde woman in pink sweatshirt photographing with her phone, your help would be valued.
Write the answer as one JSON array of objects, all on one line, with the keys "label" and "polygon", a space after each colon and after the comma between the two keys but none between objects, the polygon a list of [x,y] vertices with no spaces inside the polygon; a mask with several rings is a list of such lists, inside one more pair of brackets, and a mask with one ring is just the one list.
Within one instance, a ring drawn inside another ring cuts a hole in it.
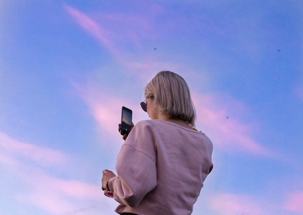
[{"label": "blonde woman in pink sweatshirt photographing with her phone", "polygon": [[144,96],[141,106],[151,120],[138,122],[123,137],[118,176],[103,171],[102,189],[114,193],[119,214],[191,214],[213,167],[212,143],[193,128],[195,108],[181,76],[159,72]]}]

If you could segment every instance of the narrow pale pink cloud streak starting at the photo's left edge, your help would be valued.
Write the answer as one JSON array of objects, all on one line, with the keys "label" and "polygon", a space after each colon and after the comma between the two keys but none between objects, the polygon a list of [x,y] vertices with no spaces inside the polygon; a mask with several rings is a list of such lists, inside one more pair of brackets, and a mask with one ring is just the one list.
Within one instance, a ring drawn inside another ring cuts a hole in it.
[{"label": "narrow pale pink cloud streak starting at the photo's left edge", "polygon": [[2,152],[13,154],[15,157],[21,155],[43,165],[60,164],[69,158],[60,151],[19,142],[2,132],[0,132],[0,148]]}]

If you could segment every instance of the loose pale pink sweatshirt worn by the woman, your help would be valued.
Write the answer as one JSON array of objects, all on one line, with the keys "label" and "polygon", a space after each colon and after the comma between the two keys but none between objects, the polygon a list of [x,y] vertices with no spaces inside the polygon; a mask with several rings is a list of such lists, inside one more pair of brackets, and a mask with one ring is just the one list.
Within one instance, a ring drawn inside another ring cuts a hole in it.
[{"label": "loose pale pink sweatshirt worn by the woman", "polygon": [[164,120],[138,122],[108,182],[117,213],[191,214],[211,171],[212,143],[202,132]]}]

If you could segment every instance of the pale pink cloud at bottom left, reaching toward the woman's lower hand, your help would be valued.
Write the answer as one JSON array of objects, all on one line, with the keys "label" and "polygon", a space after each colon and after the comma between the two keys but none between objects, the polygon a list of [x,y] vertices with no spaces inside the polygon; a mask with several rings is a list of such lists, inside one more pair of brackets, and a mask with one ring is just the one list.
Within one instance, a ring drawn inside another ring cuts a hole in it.
[{"label": "pale pink cloud at bottom left, reaching toward the woman's lower hand", "polygon": [[54,178],[42,171],[30,172],[32,174],[19,173],[22,181],[30,188],[30,191],[18,192],[19,201],[35,205],[53,214],[67,214],[83,208],[86,208],[86,212],[90,212],[94,210],[91,207],[96,207],[98,202],[102,202],[101,186]]}]

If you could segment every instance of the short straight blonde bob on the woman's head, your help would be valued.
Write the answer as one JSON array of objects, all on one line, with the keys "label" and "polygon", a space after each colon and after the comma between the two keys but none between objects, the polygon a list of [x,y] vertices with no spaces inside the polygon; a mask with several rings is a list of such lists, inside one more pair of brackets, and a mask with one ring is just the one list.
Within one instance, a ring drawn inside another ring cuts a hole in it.
[{"label": "short straight blonde bob on the woman's head", "polygon": [[145,87],[145,99],[152,98],[154,105],[168,119],[181,119],[195,126],[196,110],[186,81],[170,71],[159,72]]}]

